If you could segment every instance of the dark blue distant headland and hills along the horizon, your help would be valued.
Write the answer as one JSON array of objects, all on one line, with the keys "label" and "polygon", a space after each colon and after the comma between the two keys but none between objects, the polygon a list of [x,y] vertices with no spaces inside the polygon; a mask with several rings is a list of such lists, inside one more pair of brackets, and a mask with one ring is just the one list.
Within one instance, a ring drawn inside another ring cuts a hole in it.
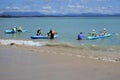
[{"label": "dark blue distant headland and hills along the horizon", "polygon": [[40,12],[3,12],[0,17],[106,17],[120,16],[120,14],[101,14],[101,13],[67,13],[67,14],[44,14]]}]

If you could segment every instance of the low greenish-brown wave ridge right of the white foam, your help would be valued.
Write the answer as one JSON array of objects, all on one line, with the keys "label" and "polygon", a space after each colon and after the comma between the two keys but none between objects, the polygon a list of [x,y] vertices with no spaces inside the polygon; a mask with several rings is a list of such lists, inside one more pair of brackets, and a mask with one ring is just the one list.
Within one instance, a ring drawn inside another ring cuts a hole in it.
[{"label": "low greenish-brown wave ridge right of the white foam", "polygon": [[[69,47],[69,48],[79,48],[79,49],[87,49],[92,51],[120,51],[120,47],[114,46],[101,46],[101,45],[89,45],[89,44],[80,44],[74,45],[68,42],[62,43],[46,43],[45,46],[61,46],[61,47]],[[118,49],[117,49],[118,48]]]}]

